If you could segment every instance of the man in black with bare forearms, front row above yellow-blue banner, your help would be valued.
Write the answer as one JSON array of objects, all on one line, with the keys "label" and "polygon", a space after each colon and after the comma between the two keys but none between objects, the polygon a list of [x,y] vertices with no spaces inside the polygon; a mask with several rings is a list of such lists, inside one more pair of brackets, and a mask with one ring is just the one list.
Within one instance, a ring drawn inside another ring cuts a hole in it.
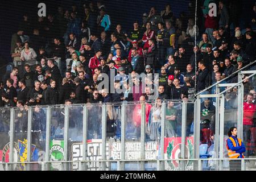
[{"label": "man in black with bare forearms, front row above yellow-blue banner", "polygon": [[35,81],[35,88],[30,89],[30,92],[27,94],[27,105],[40,105],[43,90],[40,88],[40,81]]}]

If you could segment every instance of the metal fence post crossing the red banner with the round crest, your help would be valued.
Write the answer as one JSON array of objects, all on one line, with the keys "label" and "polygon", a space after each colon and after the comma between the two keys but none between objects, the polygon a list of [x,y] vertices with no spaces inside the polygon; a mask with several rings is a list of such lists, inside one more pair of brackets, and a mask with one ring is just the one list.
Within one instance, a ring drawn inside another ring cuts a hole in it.
[{"label": "metal fence post crossing the red banner with the round crest", "polygon": [[181,121],[181,159],[185,159],[185,145],[187,137],[187,102],[182,102]]}]

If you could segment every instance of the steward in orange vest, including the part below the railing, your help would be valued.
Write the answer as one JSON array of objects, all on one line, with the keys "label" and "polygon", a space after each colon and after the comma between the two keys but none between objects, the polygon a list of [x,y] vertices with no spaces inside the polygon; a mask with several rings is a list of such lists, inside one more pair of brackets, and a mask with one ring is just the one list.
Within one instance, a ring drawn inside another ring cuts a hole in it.
[{"label": "steward in orange vest, including the part below the railing", "polygon": [[[228,132],[229,138],[226,140],[226,148],[230,159],[245,158],[245,145],[240,138],[237,138],[237,128],[231,127]],[[230,160],[230,170],[241,170],[241,160]]]}]

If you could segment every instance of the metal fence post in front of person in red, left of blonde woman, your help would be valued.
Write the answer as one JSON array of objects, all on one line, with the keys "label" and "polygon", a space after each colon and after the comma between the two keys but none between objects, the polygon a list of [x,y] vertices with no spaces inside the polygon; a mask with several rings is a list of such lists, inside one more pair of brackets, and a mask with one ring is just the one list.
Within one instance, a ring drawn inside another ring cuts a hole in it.
[{"label": "metal fence post in front of person in red, left of blonde woman", "polygon": [[146,104],[141,105],[141,159],[145,159]]}]

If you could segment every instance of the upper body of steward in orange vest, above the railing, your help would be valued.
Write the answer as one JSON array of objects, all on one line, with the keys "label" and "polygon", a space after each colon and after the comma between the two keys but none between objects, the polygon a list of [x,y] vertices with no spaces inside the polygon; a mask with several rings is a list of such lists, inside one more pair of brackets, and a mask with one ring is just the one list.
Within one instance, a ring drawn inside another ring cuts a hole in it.
[{"label": "upper body of steward in orange vest, above the railing", "polygon": [[229,158],[244,158],[245,145],[240,138],[237,138],[237,128],[232,127],[229,130],[229,138],[226,140],[226,148],[228,149]]}]

